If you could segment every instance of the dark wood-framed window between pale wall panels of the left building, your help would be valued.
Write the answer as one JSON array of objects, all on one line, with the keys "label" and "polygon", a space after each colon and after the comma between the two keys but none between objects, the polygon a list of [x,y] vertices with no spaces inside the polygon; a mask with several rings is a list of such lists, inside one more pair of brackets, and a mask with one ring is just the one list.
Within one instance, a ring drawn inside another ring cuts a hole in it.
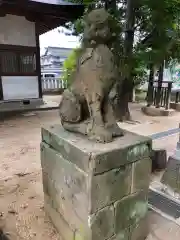
[{"label": "dark wood-framed window between pale wall panels of the left building", "polygon": [[35,75],[36,53],[0,50],[0,70],[2,75]]}]

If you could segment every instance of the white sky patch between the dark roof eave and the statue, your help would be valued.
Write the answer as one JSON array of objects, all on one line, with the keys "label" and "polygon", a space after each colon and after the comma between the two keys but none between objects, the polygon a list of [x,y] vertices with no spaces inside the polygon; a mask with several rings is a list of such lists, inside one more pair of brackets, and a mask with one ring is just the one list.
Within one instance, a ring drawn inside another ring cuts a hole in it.
[{"label": "white sky patch between the dark roof eave and the statue", "polygon": [[76,48],[79,46],[79,38],[76,36],[67,36],[70,32],[63,27],[58,27],[40,36],[40,48],[41,54],[44,53],[45,48],[52,47],[64,47],[64,48]]}]

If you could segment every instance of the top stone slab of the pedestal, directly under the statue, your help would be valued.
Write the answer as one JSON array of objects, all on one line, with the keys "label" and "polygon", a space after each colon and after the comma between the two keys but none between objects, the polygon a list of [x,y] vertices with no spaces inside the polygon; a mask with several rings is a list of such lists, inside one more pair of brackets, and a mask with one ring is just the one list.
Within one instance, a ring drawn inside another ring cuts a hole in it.
[{"label": "top stone slab of the pedestal, directly under the statue", "polygon": [[108,144],[94,143],[61,125],[42,128],[42,141],[80,169],[95,174],[149,157],[152,146],[151,139],[129,132]]}]

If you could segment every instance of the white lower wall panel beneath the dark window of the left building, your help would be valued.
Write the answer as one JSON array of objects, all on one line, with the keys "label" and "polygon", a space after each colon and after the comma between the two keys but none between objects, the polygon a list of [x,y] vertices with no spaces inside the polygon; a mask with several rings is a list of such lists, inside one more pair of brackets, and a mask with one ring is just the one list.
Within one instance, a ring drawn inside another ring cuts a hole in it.
[{"label": "white lower wall panel beneath the dark window of the left building", "polygon": [[39,98],[37,76],[2,76],[4,100]]}]

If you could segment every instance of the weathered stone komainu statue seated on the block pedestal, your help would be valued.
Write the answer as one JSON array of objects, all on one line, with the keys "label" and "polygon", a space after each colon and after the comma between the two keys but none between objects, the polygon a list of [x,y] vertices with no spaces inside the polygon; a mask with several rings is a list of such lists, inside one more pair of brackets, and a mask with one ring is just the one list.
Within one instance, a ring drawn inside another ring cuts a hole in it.
[{"label": "weathered stone komainu statue seated on the block pedestal", "polygon": [[63,127],[98,142],[122,136],[111,95],[118,71],[108,45],[112,39],[111,16],[105,9],[90,12],[85,21],[82,51],[72,75],[72,84],[63,93],[59,113]]}]

